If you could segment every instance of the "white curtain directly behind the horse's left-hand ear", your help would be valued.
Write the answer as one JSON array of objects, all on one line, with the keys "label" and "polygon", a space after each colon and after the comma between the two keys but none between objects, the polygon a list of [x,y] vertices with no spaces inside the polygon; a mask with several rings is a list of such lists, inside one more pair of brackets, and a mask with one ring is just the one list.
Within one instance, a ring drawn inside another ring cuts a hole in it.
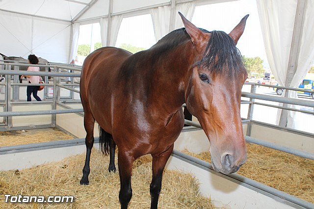
[{"label": "white curtain directly behind the horse's left-hand ear", "polygon": [[194,11],[195,11],[195,3],[193,1],[177,4],[176,14],[175,14],[175,20],[176,20],[175,29],[183,27],[183,22],[178,12],[181,12],[187,20],[192,21]]}]

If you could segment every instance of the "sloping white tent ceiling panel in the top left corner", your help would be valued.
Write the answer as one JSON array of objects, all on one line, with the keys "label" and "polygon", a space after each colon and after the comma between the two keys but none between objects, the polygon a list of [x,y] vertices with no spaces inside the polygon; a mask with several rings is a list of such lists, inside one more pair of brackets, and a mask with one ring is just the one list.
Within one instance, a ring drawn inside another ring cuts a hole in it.
[{"label": "sloping white tent ceiling panel in the top left corner", "polygon": [[0,0],[0,11],[72,21],[95,0]]}]

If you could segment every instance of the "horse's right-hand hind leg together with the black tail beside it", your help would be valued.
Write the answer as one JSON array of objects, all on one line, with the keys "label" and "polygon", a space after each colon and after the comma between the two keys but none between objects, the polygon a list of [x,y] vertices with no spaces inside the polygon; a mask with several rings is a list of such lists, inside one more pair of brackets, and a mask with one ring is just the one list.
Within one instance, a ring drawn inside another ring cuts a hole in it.
[{"label": "horse's right-hand hind leg together with the black tail beside it", "polygon": [[116,172],[116,166],[114,165],[114,156],[116,150],[116,143],[112,139],[112,135],[106,132],[101,126],[99,126],[99,145],[103,154],[110,153],[110,162],[108,171]]}]

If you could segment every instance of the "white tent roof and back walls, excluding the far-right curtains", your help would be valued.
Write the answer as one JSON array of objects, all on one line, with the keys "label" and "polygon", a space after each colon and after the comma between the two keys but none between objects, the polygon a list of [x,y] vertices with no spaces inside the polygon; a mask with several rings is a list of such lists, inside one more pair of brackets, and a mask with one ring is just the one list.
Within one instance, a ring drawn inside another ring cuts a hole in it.
[{"label": "white tent roof and back walls, excluding the far-right curtains", "polygon": [[182,27],[177,11],[191,19],[196,4],[224,1],[230,0],[1,0],[0,53],[69,63],[79,25],[100,23],[103,46],[114,46],[124,17],[151,14],[158,40]]}]

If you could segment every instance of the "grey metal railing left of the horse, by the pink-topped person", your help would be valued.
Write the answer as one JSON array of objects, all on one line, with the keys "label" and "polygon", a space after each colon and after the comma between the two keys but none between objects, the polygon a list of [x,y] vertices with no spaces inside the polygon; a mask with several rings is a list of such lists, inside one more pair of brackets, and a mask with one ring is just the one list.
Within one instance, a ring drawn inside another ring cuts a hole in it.
[{"label": "grey metal railing left of the horse, by the pink-topped person", "polygon": [[[50,125],[34,125],[29,127],[30,129],[36,128],[45,128],[45,127],[55,127],[55,118],[56,114],[64,114],[64,113],[82,113],[83,109],[56,109],[58,102],[63,100],[63,102],[76,102],[80,103],[80,100],[74,99],[74,93],[79,93],[75,87],[78,87],[78,84],[75,84],[73,78],[79,78],[80,74],[75,73],[68,73],[78,71],[80,72],[81,69],[73,66],[62,66],[62,65],[31,65],[31,64],[24,64],[24,63],[17,63],[17,62],[6,62],[0,63],[0,65],[4,65],[5,70],[0,70],[0,74],[5,76],[5,83],[0,85],[5,86],[5,96],[4,102],[0,102],[0,105],[3,106],[3,112],[0,112],[0,117],[3,117],[3,122],[0,124],[0,131],[10,131],[16,130],[13,129],[12,125],[12,117],[14,116],[29,116],[29,115],[52,115],[52,123]],[[52,72],[29,72],[29,71],[19,71],[20,66],[36,66],[36,67],[46,67],[48,71],[48,67],[52,70]],[[14,70],[11,70],[14,69]],[[63,71],[63,72],[62,72]],[[65,72],[64,72],[65,71]],[[19,83],[18,76],[41,76],[45,77],[48,80],[48,77],[52,79],[50,82],[52,83],[43,83],[43,84],[33,84],[33,83]],[[70,84],[61,83],[61,77],[71,78]],[[19,91],[21,86],[39,86],[43,85],[48,88],[44,88],[44,98],[43,101],[36,101],[36,102],[26,102],[21,101],[19,98]],[[68,97],[61,97],[60,96],[60,88],[64,88],[69,90],[70,95]],[[48,97],[48,91],[52,96]],[[12,98],[11,98],[12,94]],[[51,110],[40,110],[40,111],[12,111],[12,106],[14,105],[23,105],[23,104],[51,104]],[[23,127],[23,129],[27,129],[27,127]]]}]

